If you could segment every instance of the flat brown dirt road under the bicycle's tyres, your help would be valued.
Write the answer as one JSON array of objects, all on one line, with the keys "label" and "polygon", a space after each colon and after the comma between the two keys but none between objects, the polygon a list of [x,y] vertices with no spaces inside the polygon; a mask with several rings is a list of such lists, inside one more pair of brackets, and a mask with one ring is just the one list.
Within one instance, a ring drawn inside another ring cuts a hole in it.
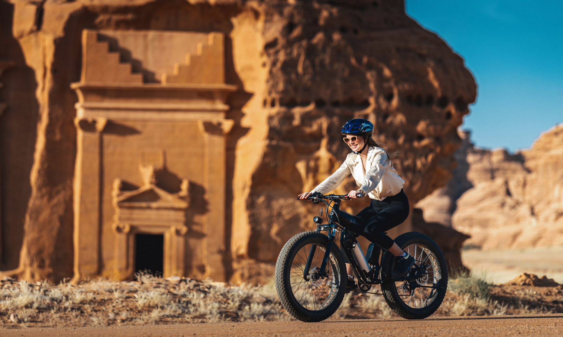
[{"label": "flat brown dirt road under the bicycle's tyres", "polygon": [[406,320],[328,320],[321,323],[252,322],[59,329],[0,330],[20,336],[561,336],[563,314],[522,316],[436,317]]}]

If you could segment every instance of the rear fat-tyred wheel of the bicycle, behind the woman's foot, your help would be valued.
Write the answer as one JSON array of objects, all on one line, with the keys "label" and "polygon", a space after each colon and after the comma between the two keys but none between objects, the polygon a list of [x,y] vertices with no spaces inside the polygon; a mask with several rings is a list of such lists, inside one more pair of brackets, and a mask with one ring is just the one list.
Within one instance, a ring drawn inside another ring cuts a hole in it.
[{"label": "rear fat-tyred wheel of the bicycle, behind the woman's foot", "polygon": [[[444,300],[448,288],[446,260],[436,242],[423,233],[404,233],[397,236],[395,242],[415,259],[414,266],[405,276],[421,277],[383,282],[383,297],[399,316],[421,320],[433,314]],[[385,253],[381,264],[383,279],[391,275],[394,261],[395,257],[391,253]]]}]

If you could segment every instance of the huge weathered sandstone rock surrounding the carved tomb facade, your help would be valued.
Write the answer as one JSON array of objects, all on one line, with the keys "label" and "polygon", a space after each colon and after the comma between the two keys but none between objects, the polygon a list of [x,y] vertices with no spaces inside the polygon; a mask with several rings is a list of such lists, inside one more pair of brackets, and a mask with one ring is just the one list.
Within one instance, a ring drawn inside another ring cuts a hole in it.
[{"label": "huge weathered sandstone rock surrounding the carved tomb facade", "polygon": [[[225,35],[225,83],[239,89],[227,100],[234,125],[226,135],[226,239],[224,258],[213,263],[225,264],[232,280],[252,278],[245,266],[275,262],[289,237],[310,228],[318,209],[295,197],[345,158],[339,129],[346,120],[368,118],[376,140],[402,152],[393,161],[414,205],[448,181],[461,144],[456,129],[476,96],[461,57],[406,16],[399,0],[0,6],[0,58],[14,62],[2,77],[1,186],[10,197],[2,200],[0,268],[17,267],[29,280],[76,272],[78,98],[70,84],[81,79],[83,29]],[[144,83],[158,82],[144,76]],[[351,188],[347,179],[337,192]],[[365,203],[346,208],[357,212]],[[203,201],[194,205],[205,210]],[[394,233],[409,229],[407,221]],[[99,255],[100,273],[113,275],[111,253]],[[194,259],[197,275],[209,275],[211,262],[198,256],[186,259]]]}]

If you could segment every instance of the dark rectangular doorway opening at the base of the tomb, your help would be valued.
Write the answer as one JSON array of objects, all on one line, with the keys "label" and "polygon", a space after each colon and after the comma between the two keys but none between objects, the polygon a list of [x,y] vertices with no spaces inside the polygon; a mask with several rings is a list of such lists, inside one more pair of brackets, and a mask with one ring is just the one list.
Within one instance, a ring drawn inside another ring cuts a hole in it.
[{"label": "dark rectangular doorway opening at the base of the tomb", "polygon": [[164,235],[135,235],[135,272],[162,276]]}]

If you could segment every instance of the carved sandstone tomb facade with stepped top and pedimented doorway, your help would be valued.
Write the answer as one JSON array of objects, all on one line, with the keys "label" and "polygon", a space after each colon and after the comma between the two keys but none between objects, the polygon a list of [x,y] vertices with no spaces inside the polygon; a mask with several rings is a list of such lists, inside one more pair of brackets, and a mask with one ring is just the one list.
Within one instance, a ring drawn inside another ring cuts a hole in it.
[{"label": "carved sandstone tomb facade with stepped top and pedimented doorway", "polygon": [[151,272],[224,280],[223,34],[84,30],[82,57],[74,277],[131,279],[142,250],[162,255]]}]

